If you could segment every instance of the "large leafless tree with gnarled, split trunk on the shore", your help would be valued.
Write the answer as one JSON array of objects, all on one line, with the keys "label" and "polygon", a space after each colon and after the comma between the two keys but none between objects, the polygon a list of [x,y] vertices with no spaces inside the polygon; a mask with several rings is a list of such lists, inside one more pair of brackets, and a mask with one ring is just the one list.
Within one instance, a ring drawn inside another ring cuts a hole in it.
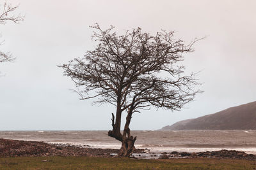
[{"label": "large leafless tree with gnarled, split trunk on the shore", "polygon": [[[134,113],[150,106],[180,110],[199,92],[193,90],[198,84],[195,75],[185,75],[185,67],[179,65],[184,59],[182,53],[192,52],[191,46],[198,39],[184,45],[173,38],[174,32],[161,31],[151,36],[138,28],[117,36],[113,26],[106,31],[98,24],[92,28],[96,29],[92,38],[98,42],[95,50],[59,67],[75,82],[81,99],[97,97],[95,103],[116,107],[108,136],[122,142],[118,155],[128,157],[135,149],[136,137],[129,129]],[[127,116],[122,132],[123,113]]]}]

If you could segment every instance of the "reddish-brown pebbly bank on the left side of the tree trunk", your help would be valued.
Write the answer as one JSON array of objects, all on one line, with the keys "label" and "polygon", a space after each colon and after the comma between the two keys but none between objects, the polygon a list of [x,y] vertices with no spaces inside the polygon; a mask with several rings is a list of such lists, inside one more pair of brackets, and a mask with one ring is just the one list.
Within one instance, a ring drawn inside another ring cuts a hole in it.
[{"label": "reddish-brown pebbly bank on the left side of the tree trunk", "polygon": [[[88,156],[111,157],[116,149],[81,148],[72,145],[56,145],[38,141],[0,139],[0,157]],[[136,150],[142,153],[143,150]]]}]

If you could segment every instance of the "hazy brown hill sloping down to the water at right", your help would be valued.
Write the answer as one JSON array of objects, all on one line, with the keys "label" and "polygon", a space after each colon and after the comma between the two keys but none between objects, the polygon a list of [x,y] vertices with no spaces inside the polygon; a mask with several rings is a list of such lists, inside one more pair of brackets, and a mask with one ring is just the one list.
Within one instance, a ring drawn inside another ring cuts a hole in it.
[{"label": "hazy brown hill sloping down to the water at right", "polygon": [[182,120],[161,130],[256,130],[256,101],[204,117]]}]

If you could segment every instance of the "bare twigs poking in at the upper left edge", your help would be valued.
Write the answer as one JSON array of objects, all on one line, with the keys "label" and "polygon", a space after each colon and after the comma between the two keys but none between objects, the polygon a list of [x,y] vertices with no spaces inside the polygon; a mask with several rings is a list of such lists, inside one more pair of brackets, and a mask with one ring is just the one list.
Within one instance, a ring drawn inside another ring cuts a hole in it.
[{"label": "bare twigs poking in at the upper left edge", "polygon": [[[24,19],[24,16],[13,14],[18,7],[19,6],[12,6],[12,4],[8,4],[6,1],[0,4],[0,25],[4,25],[9,21],[19,24]],[[0,45],[2,45],[2,43],[0,43]],[[0,50],[0,62],[12,62],[13,60],[15,60],[15,58],[12,57],[11,53],[2,52]]]}]

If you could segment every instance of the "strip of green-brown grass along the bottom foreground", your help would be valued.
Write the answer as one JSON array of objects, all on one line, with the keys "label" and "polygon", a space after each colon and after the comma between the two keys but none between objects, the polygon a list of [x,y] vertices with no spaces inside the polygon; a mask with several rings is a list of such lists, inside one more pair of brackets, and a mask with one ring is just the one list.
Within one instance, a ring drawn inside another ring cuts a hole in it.
[{"label": "strip of green-brown grass along the bottom foreground", "polygon": [[[42,160],[47,160],[43,162]],[[136,160],[96,157],[4,157],[0,169],[256,169],[256,161],[232,159]]]}]

